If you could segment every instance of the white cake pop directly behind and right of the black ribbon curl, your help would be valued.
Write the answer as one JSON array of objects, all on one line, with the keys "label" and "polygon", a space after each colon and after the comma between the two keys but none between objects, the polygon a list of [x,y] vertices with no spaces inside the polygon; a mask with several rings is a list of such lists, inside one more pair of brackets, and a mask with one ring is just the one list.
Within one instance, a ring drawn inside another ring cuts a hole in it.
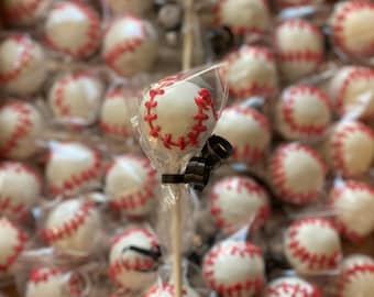
[{"label": "white cake pop directly behind and right of the black ribbon curl", "polygon": [[265,116],[248,107],[226,108],[217,122],[215,134],[227,139],[234,161],[256,163],[268,150],[272,133]]}]

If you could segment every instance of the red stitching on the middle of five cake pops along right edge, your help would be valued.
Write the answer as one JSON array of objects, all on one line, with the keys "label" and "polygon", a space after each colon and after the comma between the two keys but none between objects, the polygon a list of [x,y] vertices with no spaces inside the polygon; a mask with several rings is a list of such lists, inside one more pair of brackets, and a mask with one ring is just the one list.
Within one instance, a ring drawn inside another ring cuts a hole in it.
[{"label": "red stitching on the middle of five cake pops along right edge", "polygon": [[331,135],[330,151],[331,151],[331,162],[332,166],[338,170],[341,170],[344,176],[355,175],[348,164],[345,164],[344,158],[344,141],[352,133],[361,132],[365,133],[369,138],[374,140],[374,132],[366,125],[360,122],[343,122],[338,125]]}]

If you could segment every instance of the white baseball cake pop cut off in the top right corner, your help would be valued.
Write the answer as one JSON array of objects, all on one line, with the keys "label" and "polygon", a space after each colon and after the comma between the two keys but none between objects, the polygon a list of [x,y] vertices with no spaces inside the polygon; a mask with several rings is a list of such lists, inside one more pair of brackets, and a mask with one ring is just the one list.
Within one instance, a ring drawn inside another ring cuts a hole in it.
[{"label": "white baseball cake pop cut off in the top right corner", "polygon": [[339,2],[330,18],[332,40],[349,55],[374,54],[374,4],[366,0]]}]

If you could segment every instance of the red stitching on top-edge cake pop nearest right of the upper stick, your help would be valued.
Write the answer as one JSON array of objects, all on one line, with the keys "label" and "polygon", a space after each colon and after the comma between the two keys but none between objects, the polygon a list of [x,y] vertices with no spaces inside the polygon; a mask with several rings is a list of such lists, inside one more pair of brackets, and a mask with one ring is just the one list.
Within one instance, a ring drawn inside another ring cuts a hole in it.
[{"label": "red stitching on top-edge cake pop nearest right of the upper stick", "polygon": [[[266,0],[260,0],[264,9],[266,10],[266,13],[268,14],[268,3]],[[228,2],[228,0],[218,0],[217,3],[212,8],[212,15],[213,15],[213,24],[215,25],[229,25],[226,23],[222,23],[222,18],[221,18],[221,10],[222,6],[224,6],[224,2]],[[232,30],[233,33],[239,34],[239,35],[245,35],[250,33],[257,33],[257,34],[263,34],[266,30],[254,25],[251,28],[248,28],[245,25],[229,25],[230,29]]]}]

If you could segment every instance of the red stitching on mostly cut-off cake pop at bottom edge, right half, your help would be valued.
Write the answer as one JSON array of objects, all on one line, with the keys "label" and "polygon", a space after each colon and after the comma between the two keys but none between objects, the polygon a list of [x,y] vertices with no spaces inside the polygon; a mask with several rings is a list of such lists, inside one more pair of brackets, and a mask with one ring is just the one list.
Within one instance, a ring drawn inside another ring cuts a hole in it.
[{"label": "red stitching on mostly cut-off cake pop at bottom edge, right half", "polygon": [[[301,279],[300,279],[301,280]],[[284,279],[266,290],[267,297],[322,297],[317,286],[310,283],[288,283]]]}]

